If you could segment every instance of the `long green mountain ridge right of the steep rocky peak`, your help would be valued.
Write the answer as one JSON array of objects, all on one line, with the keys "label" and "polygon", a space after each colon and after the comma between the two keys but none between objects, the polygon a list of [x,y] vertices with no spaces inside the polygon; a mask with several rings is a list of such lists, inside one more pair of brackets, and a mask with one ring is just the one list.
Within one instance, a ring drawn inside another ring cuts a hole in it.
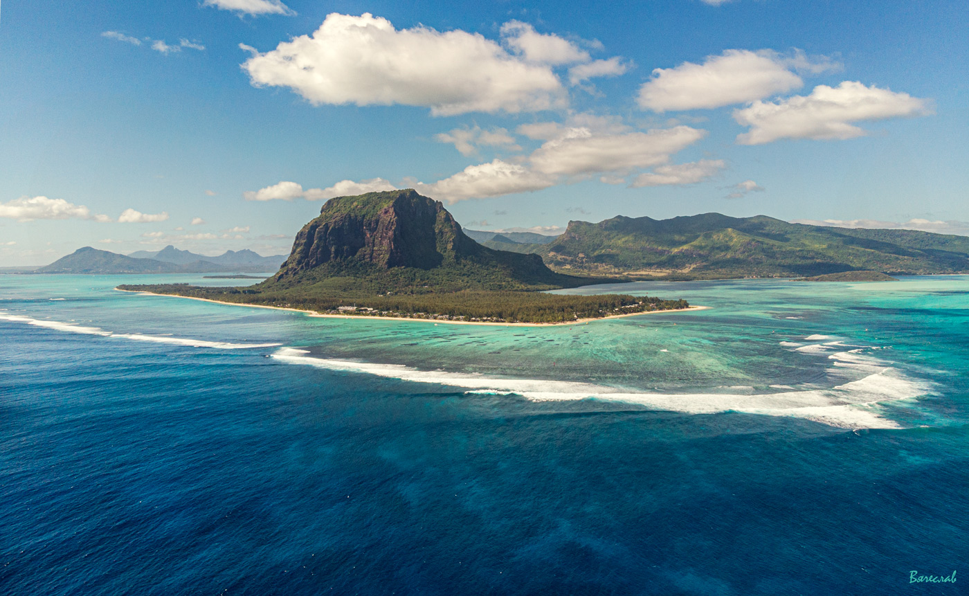
[{"label": "long green mountain ridge right of the steep rocky peak", "polygon": [[969,271],[966,236],[808,226],[765,215],[573,221],[553,242],[516,250],[540,254],[556,270],[583,274],[695,278]]}]

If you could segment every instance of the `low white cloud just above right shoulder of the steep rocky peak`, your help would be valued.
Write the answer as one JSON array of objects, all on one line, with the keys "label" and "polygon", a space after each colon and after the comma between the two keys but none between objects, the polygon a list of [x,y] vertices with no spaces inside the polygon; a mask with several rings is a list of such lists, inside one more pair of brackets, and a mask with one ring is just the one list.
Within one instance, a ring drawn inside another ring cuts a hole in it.
[{"label": "low white cloud just above right shoulder of the steep rocky peak", "polygon": [[456,203],[540,190],[554,183],[551,176],[496,159],[488,164],[468,166],[462,172],[432,184],[418,183],[416,190],[433,199]]}]

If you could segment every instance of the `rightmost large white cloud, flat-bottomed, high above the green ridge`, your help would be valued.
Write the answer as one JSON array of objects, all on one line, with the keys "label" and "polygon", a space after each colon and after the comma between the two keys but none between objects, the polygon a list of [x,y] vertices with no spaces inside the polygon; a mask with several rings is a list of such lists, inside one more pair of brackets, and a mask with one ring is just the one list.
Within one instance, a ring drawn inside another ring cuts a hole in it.
[{"label": "rightmost large white cloud, flat-bottomed, high above the green ridge", "polygon": [[778,139],[852,139],[865,131],[851,122],[929,113],[927,100],[845,80],[837,87],[818,85],[808,96],[754,102],[735,110],[734,119],[751,127],[737,136],[737,142],[763,144]]}]

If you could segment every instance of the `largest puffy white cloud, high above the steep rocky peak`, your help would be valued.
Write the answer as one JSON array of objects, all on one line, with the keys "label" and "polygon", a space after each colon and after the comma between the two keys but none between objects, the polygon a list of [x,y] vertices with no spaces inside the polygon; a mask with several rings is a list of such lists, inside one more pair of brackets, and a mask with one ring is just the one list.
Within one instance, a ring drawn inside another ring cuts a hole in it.
[{"label": "largest puffy white cloud, high above the steep rocky peak", "polygon": [[396,30],[385,18],[331,14],[312,36],[253,52],[242,64],[256,86],[289,87],[314,105],[400,104],[434,115],[547,110],[564,106],[545,63],[509,53],[480,34],[418,26]]}]

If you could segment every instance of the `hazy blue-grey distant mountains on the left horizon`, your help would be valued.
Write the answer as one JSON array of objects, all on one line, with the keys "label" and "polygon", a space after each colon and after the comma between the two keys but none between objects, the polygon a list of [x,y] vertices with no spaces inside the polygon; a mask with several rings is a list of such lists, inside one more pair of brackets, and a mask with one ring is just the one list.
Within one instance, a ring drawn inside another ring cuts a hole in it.
[{"label": "hazy blue-grey distant mountains on the left horizon", "polygon": [[[144,256],[147,255],[147,256]],[[120,255],[90,246],[34,270],[36,273],[225,273],[270,272],[286,261],[285,255],[262,257],[251,250],[228,251],[206,257],[172,245],[157,252]]]}]

